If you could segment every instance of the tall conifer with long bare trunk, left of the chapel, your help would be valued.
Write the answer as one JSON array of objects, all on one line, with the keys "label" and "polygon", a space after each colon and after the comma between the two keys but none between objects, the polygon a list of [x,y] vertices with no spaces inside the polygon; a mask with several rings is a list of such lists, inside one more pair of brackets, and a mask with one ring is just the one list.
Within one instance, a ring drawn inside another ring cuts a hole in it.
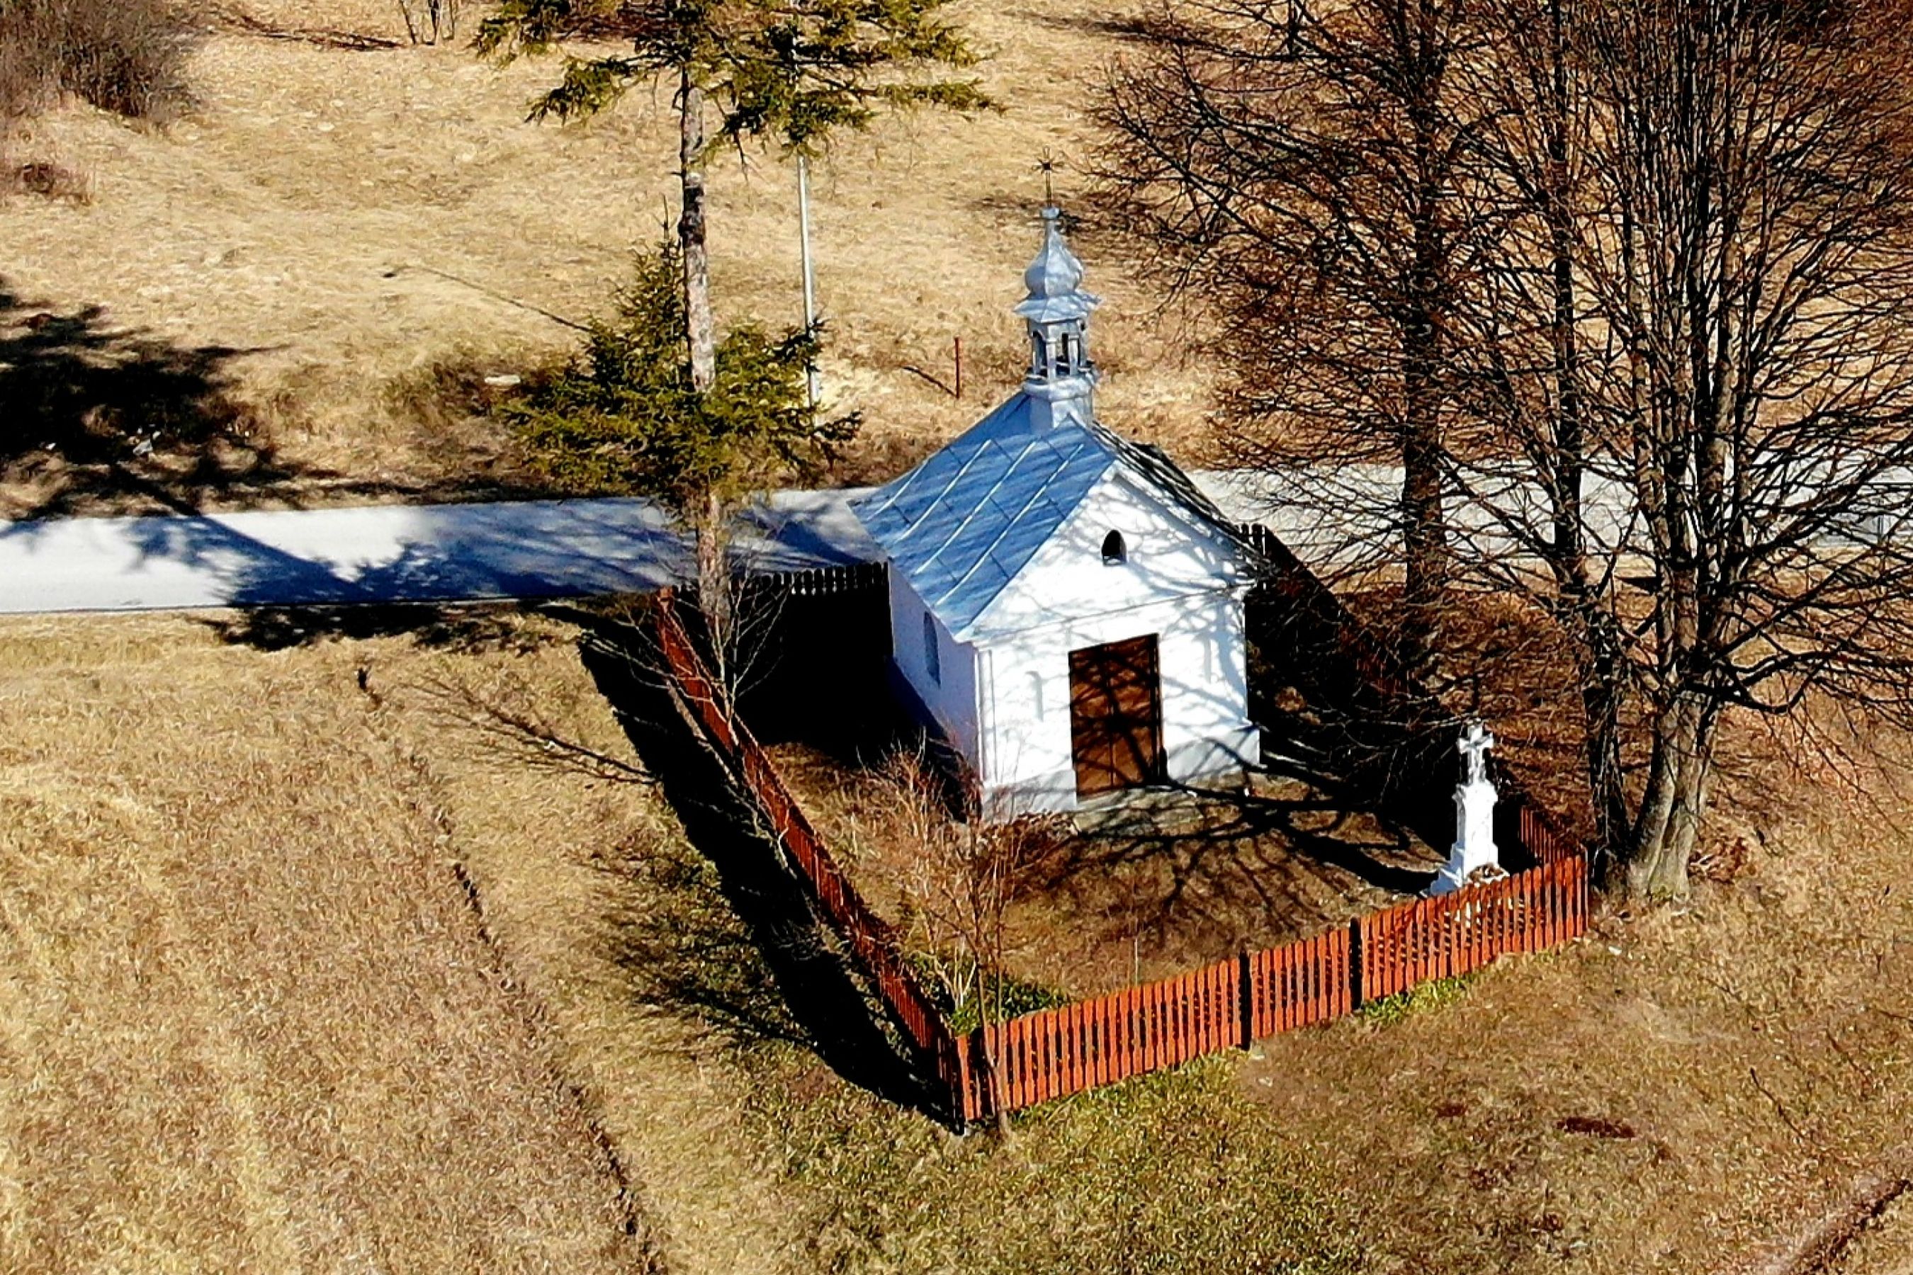
[{"label": "tall conifer with long bare trunk, left of the chapel", "polygon": [[[815,157],[832,134],[867,128],[880,109],[991,105],[974,80],[945,78],[978,55],[943,21],[947,0],[505,0],[478,29],[482,55],[511,59],[555,50],[570,32],[616,32],[629,54],[566,55],[564,76],[532,105],[532,119],[572,120],[616,103],[629,88],[675,80],[681,187],[675,262],[693,401],[717,378],[717,325],[706,247],[704,174],[715,143],[746,141]],[[717,111],[712,138],[710,111]],[[685,428],[708,422],[694,411]],[[668,493],[698,545],[706,619],[729,627],[725,526],[735,507],[721,484],[696,497]]]}]

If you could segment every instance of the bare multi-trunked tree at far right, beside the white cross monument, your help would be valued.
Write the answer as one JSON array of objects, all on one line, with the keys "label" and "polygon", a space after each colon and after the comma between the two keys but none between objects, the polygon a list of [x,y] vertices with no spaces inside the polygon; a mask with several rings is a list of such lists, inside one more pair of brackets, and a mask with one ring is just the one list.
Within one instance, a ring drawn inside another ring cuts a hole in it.
[{"label": "bare multi-trunked tree at far right, beside the white cross monument", "polygon": [[[1483,296],[1477,313],[1502,321],[1477,325],[1475,371],[1502,411],[1450,465],[1486,512],[1469,560],[1498,587],[1546,581],[1571,619],[1597,812],[1628,887],[1678,897],[1726,709],[1913,707],[1905,13],[1553,11],[1546,57],[1584,96],[1559,115],[1584,155],[1559,195],[1496,166],[1550,247],[1513,237]],[[1523,296],[1532,266],[1569,294]],[[1634,793],[1609,770],[1628,696],[1647,723]],[[1624,826],[1616,805],[1632,805]]]}]

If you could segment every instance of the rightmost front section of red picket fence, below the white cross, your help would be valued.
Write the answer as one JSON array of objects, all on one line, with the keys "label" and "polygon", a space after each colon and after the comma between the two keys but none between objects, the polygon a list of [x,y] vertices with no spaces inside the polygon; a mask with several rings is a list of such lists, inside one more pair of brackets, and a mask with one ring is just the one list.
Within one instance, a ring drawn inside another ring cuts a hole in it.
[{"label": "rightmost front section of red picket fence, below the white cross", "polygon": [[1588,860],[1544,862],[1502,881],[1416,898],[1356,921],[1362,1000],[1481,969],[1504,952],[1540,952],[1588,929]]}]

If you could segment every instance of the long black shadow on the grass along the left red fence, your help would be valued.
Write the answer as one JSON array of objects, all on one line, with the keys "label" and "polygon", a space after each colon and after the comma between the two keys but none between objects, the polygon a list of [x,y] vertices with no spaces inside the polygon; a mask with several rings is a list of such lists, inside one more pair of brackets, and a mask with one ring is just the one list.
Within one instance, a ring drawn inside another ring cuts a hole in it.
[{"label": "long black shadow on the grass along the left red fence", "polygon": [[[798,1040],[844,1080],[891,1103],[941,1114],[947,1099],[937,1101],[914,1059],[884,1030],[870,992],[826,940],[823,919],[784,868],[754,805],[666,692],[649,642],[629,629],[597,629],[582,654],[687,839],[715,870],[717,891],[769,971],[788,1019],[767,1015],[748,984],[717,969],[679,963],[677,975],[662,979],[652,969],[645,975],[652,990],[738,1040]],[[662,950],[658,939],[649,921],[622,925],[620,952],[631,962],[654,960]],[[719,942],[706,956],[733,962],[735,969],[740,954]]]}]

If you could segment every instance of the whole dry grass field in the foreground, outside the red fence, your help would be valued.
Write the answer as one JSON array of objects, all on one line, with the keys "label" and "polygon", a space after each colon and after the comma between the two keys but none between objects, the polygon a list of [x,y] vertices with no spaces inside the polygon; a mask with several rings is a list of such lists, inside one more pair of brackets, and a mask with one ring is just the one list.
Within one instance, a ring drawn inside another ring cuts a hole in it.
[{"label": "whole dry grass field in the foreground, outside the red fence", "polygon": [[0,627],[0,1265],[1699,1275],[1903,1141],[1892,770],[1748,746],[1693,908],[999,1147],[821,1061],[566,625],[386,627]]}]

